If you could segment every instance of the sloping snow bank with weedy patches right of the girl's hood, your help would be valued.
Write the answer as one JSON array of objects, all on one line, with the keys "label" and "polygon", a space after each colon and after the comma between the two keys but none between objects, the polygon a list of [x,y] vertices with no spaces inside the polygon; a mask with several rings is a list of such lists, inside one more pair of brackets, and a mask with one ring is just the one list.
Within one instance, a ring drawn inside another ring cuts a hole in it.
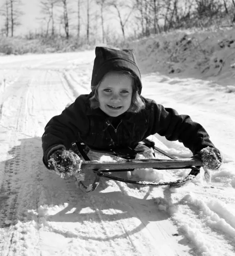
[{"label": "sloping snow bank with weedy patches right of the girl's hood", "polygon": [[127,47],[135,50],[142,73],[197,76],[228,85],[235,78],[234,35],[235,29],[230,28],[175,30],[130,42]]}]

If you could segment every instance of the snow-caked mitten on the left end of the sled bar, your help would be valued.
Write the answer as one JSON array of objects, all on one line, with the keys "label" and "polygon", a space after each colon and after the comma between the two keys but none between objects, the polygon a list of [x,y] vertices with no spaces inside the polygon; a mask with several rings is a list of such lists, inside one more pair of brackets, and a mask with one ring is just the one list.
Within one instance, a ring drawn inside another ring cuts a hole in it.
[{"label": "snow-caked mitten on the left end of the sled bar", "polygon": [[48,165],[62,178],[81,172],[81,158],[72,150],[59,149],[54,151],[48,159]]}]

